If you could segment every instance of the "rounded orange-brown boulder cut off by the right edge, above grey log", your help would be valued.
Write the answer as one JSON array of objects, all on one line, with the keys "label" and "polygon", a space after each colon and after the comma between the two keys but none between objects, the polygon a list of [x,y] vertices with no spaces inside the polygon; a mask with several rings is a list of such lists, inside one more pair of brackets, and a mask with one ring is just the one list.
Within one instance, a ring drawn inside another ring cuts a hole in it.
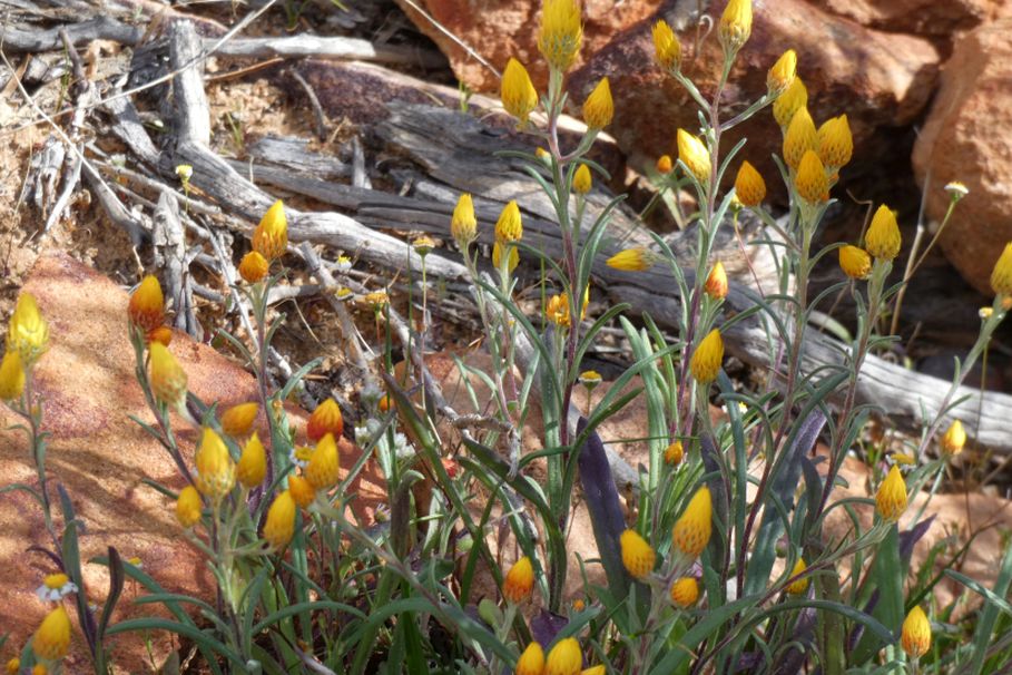
[{"label": "rounded orange-brown boulder cut off by the right edge, above grey log", "polygon": [[941,221],[960,180],[970,194],[942,235],[945,256],[963,277],[991,294],[991,270],[1012,241],[1012,19],[970,32],[945,65],[942,88],[914,146],[921,185],[929,174],[927,216]]}]

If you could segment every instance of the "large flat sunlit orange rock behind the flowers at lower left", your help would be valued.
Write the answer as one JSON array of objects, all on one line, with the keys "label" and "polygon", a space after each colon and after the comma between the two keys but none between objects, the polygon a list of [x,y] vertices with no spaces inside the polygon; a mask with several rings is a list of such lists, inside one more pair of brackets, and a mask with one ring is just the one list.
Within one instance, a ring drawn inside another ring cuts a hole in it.
[{"label": "large flat sunlit orange rock behind the flowers at lower left", "polygon": [[[32,293],[49,321],[50,348],[36,366],[38,390],[45,397],[45,428],[51,434],[47,454],[50,496],[56,486],[70,495],[80,518],[85,584],[90,598],[104,600],[109,588],[104,566],[88,564],[114,546],[126,559],[139,557],[144,570],[169,593],[214,598],[214,580],[203,556],[190,547],[174,516],[174,505],[145,479],[174,490],[186,483],[168,453],[128,415],[151,420],[134,378],[134,352],[127,338],[127,294],[115,283],[66,256],[39,258],[24,290]],[[223,407],[256,400],[255,382],[239,365],[212,348],[177,333],[169,348],[186,370],[189,389],[203,400]],[[0,488],[13,482],[38,487],[24,434],[8,429],[19,421],[0,405]],[[304,415],[293,415],[304,424]],[[180,420],[176,425],[184,456],[193,457],[196,430]],[[299,439],[304,433],[299,432]],[[267,438],[263,432],[261,438]],[[341,447],[342,467],[350,467],[357,450]],[[363,479],[356,491],[364,502],[382,495],[379,480]],[[53,507],[59,512],[59,507]],[[367,506],[358,513],[372,512]],[[58,529],[61,529],[59,518]],[[30,546],[51,546],[41,508],[24,492],[0,495],[0,634],[10,633],[0,662],[20,649],[42,620],[47,607],[36,597],[42,578],[57,571],[46,557],[26,552]],[[114,623],[157,612],[157,606],[134,606],[143,593],[127,581]],[[65,671],[90,673],[87,647],[69,609],[73,644]],[[178,639],[153,634],[156,658],[178,647]],[[144,636],[122,635],[114,642],[117,672],[149,672]]]}]

